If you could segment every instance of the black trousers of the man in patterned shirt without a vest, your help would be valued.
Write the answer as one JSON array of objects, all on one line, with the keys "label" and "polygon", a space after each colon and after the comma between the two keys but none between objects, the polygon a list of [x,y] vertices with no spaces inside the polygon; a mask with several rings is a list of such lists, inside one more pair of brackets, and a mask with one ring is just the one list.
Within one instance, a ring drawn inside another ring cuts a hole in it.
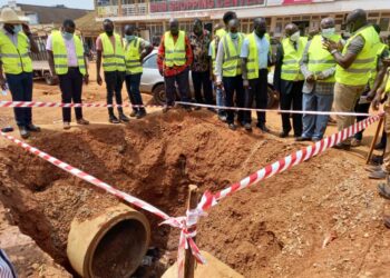
[{"label": "black trousers of the man in patterned shirt without a vest", "polygon": [[213,87],[209,80],[209,71],[192,71],[191,75],[193,77],[196,102],[213,105]]}]

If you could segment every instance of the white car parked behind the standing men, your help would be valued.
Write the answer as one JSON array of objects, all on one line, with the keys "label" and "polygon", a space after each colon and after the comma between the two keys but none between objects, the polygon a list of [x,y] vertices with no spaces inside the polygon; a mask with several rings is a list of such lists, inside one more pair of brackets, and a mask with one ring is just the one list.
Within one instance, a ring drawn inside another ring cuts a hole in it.
[{"label": "white car parked behind the standing men", "polygon": [[[164,78],[159,75],[157,67],[157,50],[153,50],[150,54],[144,59],[144,73],[140,78],[139,90],[144,93],[152,93],[157,105],[165,103],[165,86]],[[273,89],[273,72],[269,73],[269,103],[267,108],[272,108],[277,101],[279,96]],[[189,89],[194,96],[193,80],[189,75]]]}]

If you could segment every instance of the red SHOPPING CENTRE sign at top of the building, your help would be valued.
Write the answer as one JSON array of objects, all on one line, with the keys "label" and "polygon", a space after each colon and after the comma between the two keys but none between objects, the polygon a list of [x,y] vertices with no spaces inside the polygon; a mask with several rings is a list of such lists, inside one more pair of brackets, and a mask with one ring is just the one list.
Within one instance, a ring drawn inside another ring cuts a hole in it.
[{"label": "red SHOPPING CENTRE sign at top of the building", "polygon": [[194,11],[264,4],[265,0],[177,0],[150,2],[150,12]]}]

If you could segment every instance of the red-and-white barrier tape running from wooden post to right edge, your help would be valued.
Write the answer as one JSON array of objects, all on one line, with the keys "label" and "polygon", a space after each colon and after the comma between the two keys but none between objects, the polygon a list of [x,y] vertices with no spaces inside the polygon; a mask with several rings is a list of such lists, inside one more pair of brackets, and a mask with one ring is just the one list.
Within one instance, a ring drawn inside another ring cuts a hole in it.
[{"label": "red-and-white barrier tape running from wooden post to right edge", "polygon": [[252,186],[259,181],[262,181],[264,179],[267,179],[276,173],[283,172],[287,169],[290,169],[293,166],[296,166],[321,152],[326,150],[328,148],[333,147],[334,145],[342,142],[347,138],[353,136],[354,133],[365,129],[373,122],[378,121],[383,115],[376,115],[371,116],[370,118],[367,118],[365,120],[359,121],[338,133],[334,133],[330,137],[326,137],[311,146],[304,147],[301,150],[280,159],[279,161],[269,165],[256,172],[250,175],[248,177],[242,179],[241,181],[216,192],[212,193],[206,191],[203,196],[207,201],[203,202],[202,210],[207,210],[211,207],[214,207],[217,205],[217,202],[227,196],[233,195],[236,191],[240,191],[248,186]]}]

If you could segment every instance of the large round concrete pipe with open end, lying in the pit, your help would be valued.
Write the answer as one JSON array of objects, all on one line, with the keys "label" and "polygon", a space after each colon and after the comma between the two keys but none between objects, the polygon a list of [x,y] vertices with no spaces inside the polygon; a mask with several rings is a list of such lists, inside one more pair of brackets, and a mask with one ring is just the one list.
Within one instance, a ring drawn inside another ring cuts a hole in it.
[{"label": "large round concrete pipe with open end, lying in the pit", "polygon": [[119,205],[96,218],[71,222],[67,255],[85,278],[130,277],[140,265],[150,239],[146,217]]}]

